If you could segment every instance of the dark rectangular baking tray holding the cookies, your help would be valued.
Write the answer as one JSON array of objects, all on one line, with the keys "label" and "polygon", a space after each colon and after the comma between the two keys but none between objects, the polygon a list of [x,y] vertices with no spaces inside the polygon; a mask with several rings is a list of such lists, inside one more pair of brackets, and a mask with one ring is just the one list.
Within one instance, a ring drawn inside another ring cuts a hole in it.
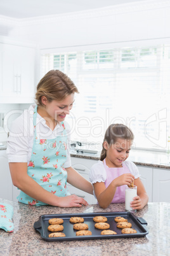
[{"label": "dark rectangular baking tray holding the cookies", "polygon": [[[105,216],[107,217],[107,223],[110,224],[110,230],[117,232],[114,235],[101,235],[101,230],[95,228],[95,222],[93,217],[95,216]],[[117,228],[114,218],[115,217],[124,217],[128,218],[128,222],[131,222],[132,228],[136,229],[137,233],[135,234],[122,234],[122,229]],[[91,236],[76,236],[73,229],[72,223],[70,223],[70,217],[82,217],[84,218],[84,223],[88,224],[89,231],[92,232]],[[63,219],[63,233],[65,237],[62,238],[49,238],[48,235],[51,232],[48,231],[49,219],[50,218],[62,218]],[[147,222],[143,218],[136,217],[133,213],[128,211],[115,211],[109,213],[72,213],[72,214],[51,214],[51,215],[41,215],[39,220],[34,223],[34,229],[41,234],[41,238],[46,241],[66,241],[66,240],[85,240],[85,239],[108,239],[108,238],[140,238],[148,234],[146,228]]]}]

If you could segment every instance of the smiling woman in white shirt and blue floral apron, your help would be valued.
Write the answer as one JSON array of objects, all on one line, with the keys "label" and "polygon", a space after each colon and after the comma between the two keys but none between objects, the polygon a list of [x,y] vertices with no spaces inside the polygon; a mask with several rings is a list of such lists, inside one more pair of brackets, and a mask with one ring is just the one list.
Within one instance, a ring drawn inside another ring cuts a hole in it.
[{"label": "smiling woman in white shirt and blue floral apron", "polygon": [[77,87],[58,70],[49,71],[37,85],[37,104],[13,122],[8,138],[8,160],[18,201],[30,205],[81,207],[88,203],[70,196],[67,182],[93,194],[89,181],[71,167],[70,128],[65,120]]}]

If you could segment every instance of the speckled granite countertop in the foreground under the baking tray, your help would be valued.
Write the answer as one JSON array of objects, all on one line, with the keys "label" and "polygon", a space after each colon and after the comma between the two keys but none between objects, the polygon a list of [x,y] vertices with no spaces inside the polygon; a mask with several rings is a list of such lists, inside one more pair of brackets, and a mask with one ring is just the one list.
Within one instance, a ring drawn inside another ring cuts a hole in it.
[{"label": "speckled granite countertop in the foreground under the baking tray", "polygon": [[14,232],[0,229],[0,247],[3,255],[169,255],[170,249],[170,203],[148,203],[135,213],[144,218],[148,234],[142,238],[89,239],[77,241],[48,242],[34,229],[39,216],[63,213],[94,213],[124,211],[124,204],[110,204],[102,209],[98,204],[81,208],[58,208],[53,206],[28,206],[0,199],[14,209]]}]

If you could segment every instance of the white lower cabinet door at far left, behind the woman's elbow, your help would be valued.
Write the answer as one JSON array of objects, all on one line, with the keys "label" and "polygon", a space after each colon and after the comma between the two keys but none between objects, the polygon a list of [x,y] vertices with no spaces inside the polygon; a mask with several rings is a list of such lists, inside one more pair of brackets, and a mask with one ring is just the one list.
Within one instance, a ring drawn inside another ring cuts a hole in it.
[{"label": "white lower cabinet door at far left, behind the woman's elbow", "polygon": [[6,150],[0,150],[0,198],[12,200],[12,181]]}]

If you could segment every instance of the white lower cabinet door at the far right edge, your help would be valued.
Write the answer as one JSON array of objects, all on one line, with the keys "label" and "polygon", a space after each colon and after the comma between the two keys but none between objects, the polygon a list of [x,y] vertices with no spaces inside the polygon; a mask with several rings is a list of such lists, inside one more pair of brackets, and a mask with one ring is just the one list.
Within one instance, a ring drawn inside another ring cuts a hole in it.
[{"label": "white lower cabinet door at the far right edge", "polygon": [[153,202],[170,203],[170,170],[153,170]]}]

